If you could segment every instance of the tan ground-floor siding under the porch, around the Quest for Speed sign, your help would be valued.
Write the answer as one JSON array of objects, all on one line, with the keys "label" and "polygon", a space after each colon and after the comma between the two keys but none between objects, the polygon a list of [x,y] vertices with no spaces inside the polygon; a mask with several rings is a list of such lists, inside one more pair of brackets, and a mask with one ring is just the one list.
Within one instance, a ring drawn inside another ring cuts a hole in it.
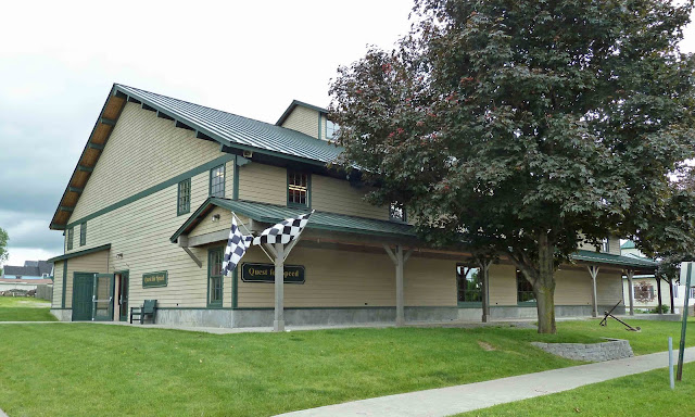
[{"label": "tan ground-floor siding under the porch, around the Quest for Speed sign", "polygon": [[[252,248],[243,263],[270,261]],[[287,264],[304,265],[306,282],[285,286],[287,307],[364,307],[395,305],[395,267],[383,254],[302,248]],[[405,265],[406,305],[456,305],[455,263],[412,257]],[[225,283],[226,286],[227,283]],[[239,307],[273,307],[274,285],[243,282]]]}]

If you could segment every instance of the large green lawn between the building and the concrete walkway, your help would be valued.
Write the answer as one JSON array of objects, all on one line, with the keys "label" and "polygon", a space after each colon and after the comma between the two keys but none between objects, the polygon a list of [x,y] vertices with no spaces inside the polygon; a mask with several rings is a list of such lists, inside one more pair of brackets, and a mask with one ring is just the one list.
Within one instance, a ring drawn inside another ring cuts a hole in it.
[{"label": "large green lawn between the building and the concrete walkway", "polygon": [[633,321],[643,332],[597,320],[558,323],[559,334],[510,327],[207,334],[0,325],[0,357],[12,357],[0,361],[0,408],[11,416],[265,416],[578,364],[530,341],[622,337],[648,353],[678,334],[678,323]]}]

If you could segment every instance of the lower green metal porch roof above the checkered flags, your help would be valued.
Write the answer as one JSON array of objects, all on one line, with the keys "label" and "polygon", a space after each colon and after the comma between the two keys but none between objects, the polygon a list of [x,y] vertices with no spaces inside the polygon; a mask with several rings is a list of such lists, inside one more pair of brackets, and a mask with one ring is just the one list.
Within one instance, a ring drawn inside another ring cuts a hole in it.
[{"label": "lower green metal porch roof above the checkered flags", "polygon": [[[211,197],[186,220],[186,223],[172,236],[172,242],[182,233],[192,230],[200,219],[215,207],[223,207],[239,215],[247,216],[256,222],[276,224],[286,218],[295,217],[307,213],[307,208],[292,208],[274,204],[255,203],[242,200],[227,200]],[[343,231],[361,235],[389,236],[396,238],[415,238],[413,226],[374,218],[346,216],[343,214],[315,212],[308,224],[309,229]]]}]

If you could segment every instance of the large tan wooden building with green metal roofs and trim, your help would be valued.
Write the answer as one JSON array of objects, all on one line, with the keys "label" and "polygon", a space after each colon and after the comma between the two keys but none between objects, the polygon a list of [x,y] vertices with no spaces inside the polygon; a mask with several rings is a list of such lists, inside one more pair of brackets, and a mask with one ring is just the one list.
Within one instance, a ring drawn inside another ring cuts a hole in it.
[{"label": "large tan wooden building with green metal roofs and trim", "polygon": [[[404,211],[368,204],[363,185],[327,165],[341,152],[334,129],[298,101],[271,125],[114,85],[50,225],[65,236],[51,311],[127,320],[156,300],[161,324],[270,326],[266,255],[253,247],[220,275],[231,212],[258,231],[315,210],[286,261],[288,325],[480,320],[483,296],[493,318],[535,316],[510,263],[492,265],[483,294],[465,250],[428,248]],[[557,273],[558,316],[611,306],[623,274],[654,268],[620,256],[612,237],[574,258]]]}]

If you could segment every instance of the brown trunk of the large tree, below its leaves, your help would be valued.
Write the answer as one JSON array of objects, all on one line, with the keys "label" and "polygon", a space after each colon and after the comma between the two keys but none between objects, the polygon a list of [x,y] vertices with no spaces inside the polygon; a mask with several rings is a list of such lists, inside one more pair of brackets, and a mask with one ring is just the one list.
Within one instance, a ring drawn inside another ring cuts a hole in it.
[{"label": "brown trunk of the large tree, below its leaves", "polygon": [[539,276],[533,282],[539,312],[539,333],[556,333],[555,327],[555,248],[546,233],[539,236]]}]

